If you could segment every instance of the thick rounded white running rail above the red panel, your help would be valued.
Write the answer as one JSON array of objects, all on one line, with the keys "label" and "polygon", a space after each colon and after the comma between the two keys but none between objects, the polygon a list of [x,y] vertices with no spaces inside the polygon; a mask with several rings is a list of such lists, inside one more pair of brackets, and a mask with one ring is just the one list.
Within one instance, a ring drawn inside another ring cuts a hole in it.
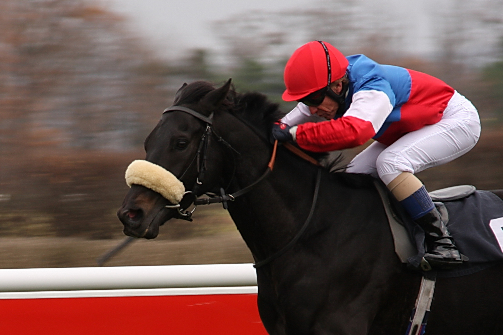
[{"label": "thick rounded white running rail above the red panel", "polygon": [[253,264],[0,269],[0,292],[257,286]]}]

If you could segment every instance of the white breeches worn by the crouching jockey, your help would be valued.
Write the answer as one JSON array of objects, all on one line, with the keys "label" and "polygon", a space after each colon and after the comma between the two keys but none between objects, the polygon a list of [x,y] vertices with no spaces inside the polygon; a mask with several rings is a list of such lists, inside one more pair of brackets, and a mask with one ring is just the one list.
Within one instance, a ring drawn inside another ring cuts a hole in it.
[{"label": "white breeches worn by the crouching jockey", "polygon": [[455,91],[438,123],[405,134],[390,146],[372,143],[346,171],[371,174],[387,185],[402,172],[417,173],[464,155],[479,136],[477,109]]}]

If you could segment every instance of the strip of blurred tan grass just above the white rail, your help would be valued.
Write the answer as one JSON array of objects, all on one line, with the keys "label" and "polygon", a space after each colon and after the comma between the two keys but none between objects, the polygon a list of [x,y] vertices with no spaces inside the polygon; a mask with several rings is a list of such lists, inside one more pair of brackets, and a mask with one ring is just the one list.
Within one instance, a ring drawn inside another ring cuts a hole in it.
[{"label": "strip of blurred tan grass just above the white rail", "polygon": [[[0,268],[93,267],[117,240],[82,238],[0,238]],[[239,233],[187,240],[138,240],[105,266],[253,263]]]}]

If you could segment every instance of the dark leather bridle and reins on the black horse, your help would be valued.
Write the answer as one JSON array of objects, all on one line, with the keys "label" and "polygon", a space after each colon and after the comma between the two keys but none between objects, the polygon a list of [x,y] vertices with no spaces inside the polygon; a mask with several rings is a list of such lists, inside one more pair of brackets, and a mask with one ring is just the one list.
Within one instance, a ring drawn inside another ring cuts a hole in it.
[{"label": "dark leather bridle and reins on the black horse", "polygon": [[[198,150],[196,152],[196,156],[192,159],[191,163],[189,164],[189,166],[187,167],[185,172],[182,174],[182,176],[185,175],[185,173],[190,168],[190,166],[192,165],[194,160],[197,160],[198,176],[196,178],[196,181],[194,183],[192,191],[185,192],[184,197],[182,198],[182,200],[180,201],[179,204],[164,206],[164,208],[172,208],[172,209],[176,208],[177,209],[177,214],[174,216],[174,218],[181,218],[184,220],[192,221],[192,217],[191,217],[192,213],[194,212],[194,210],[196,209],[196,207],[198,205],[206,205],[206,204],[210,204],[210,203],[221,202],[223,204],[223,208],[227,209],[228,208],[227,201],[234,201],[237,197],[239,197],[243,194],[246,194],[251,189],[253,189],[257,184],[259,184],[262,180],[264,180],[267,176],[269,176],[269,174],[273,171],[274,163],[276,160],[276,151],[277,151],[277,147],[278,147],[278,140],[276,140],[274,142],[273,153],[272,153],[271,159],[267,165],[266,171],[255,182],[251,183],[250,185],[248,185],[248,186],[246,186],[246,187],[244,187],[244,188],[242,188],[232,194],[225,193],[224,188],[221,187],[220,188],[220,195],[206,193],[206,195],[209,196],[208,198],[198,198],[197,193],[198,193],[201,185],[203,184],[204,174],[206,172],[206,161],[207,161],[208,147],[209,147],[211,136],[212,135],[215,136],[218,139],[218,142],[222,143],[224,146],[226,146],[227,148],[229,148],[233,152],[236,152],[237,154],[239,154],[239,152],[237,150],[235,150],[234,148],[232,148],[232,146],[229,143],[227,143],[222,137],[218,136],[215,133],[215,131],[212,129],[213,113],[211,113],[209,117],[206,117],[206,116],[202,115],[201,113],[195,111],[194,109],[191,109],[188,107],[170,106],[170,107],[167,107],[166,109],[164,109],[162,114],[167,113],[169,111],[183,111],[183,112],[188,113],[188,114],[192,115],[193,117],[203,121],[206,124],[206,130],[204,131],[203,135],[201,136],[201,139],[199,140],[199,146],[198,146]],[[243,123],[245,125],[247,125],[247,123],[245,123],[245,122],[243,122]],[[249,125],[247,125],[247,126],[249,127]],[[255,130],[253,128],[251,128],[251,129],[255,132]],[[259,137],[262,137],[262,136],[259,136]],[[283,145],[287,149],[289,149],[290,151],[295,153],[296,155],[300,156],[301,158],[303,158],[303,159],[305,159],[305,160],[307,160],[317,166],[320,166],[320,164],[316,160],[314,160],[312,157],[306,155],[301,150],[295,148],[291,144],[284,143]],[[321,169],[318,168],[317,174],[316,174],[316,184],[314,187],[313,200],[311,203],[311,209],[309,211],[309,214],[308,214],[306,220],[304,221],[304,224],[302,225],[301,229],[299,230],[299,232],[295,235],[295,237],[288,244],[286,244],[283,248],[281,248],[280,250],[275,252],[273,255],[269,256],[268,258],[266,258],[262,261],[256,262],[254,265],[255,268],[262,267],[262,266],[272,262],[276,258],[280,257],[281,255],[283,255],[286,251],[288,251],[291,247],[293,247],[293,245],[304,234],[307,226],[309,225],[309,222],[311,221],[312,215],[314,213],[314,208],[316,206],[316,201],[318,198],[320,180],[321,180]],[[192,209],[192,211],[187,211],[187,208],[191,205],[191,203],[194,203],[195,207]],[[255,255],[254,255],[254,257],[255,257]]]}]

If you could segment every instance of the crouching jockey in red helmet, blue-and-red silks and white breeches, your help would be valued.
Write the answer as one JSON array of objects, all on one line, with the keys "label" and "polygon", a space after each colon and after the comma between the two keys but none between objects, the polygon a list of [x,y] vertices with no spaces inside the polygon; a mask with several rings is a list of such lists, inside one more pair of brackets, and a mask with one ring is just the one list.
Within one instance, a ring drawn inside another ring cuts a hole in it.
[{"label": "crouching jockey in red helmet, blue-and-red silks and white breeches", "polygon": [[450,162],[475,146],[477,109],[445,82],[364,55],[344,55],[322,41],[297,49],[284,73],[283,99],[299,101],[272,136],[312,152],[374,139],[347,168],[379,177],[425,231],[425,259],[440,268],[462,263],[439,212],[414,173]]}]

